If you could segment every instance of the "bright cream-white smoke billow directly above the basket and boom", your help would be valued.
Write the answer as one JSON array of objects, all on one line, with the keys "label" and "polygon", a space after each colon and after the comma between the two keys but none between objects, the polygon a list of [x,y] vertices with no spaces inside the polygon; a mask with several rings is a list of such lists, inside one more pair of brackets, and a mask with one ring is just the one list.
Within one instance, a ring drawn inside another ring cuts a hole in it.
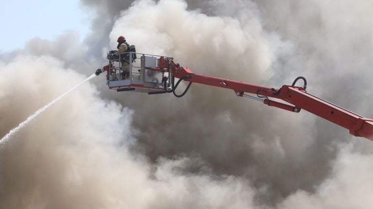
[{"label": "bright cream-white smoke billow directly above the basket and boom", "polygon": [[126,34],[139,52],[172,55],[200,73],[247,76],[252,81],[271,75],[272,54],[257,16],[242,23],[186,8],[181,0],[136,1],[115,22],[110,33],[112,48],[118,36]]}]

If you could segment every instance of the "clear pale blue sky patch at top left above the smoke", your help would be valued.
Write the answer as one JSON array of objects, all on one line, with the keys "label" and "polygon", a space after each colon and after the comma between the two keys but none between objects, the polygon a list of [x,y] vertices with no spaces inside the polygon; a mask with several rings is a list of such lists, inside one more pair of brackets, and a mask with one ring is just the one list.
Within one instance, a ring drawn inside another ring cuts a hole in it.
[{"label": "clear pale blue sky patch at top left above the smoke", "polygon": [[54,40],[66,30],[79,33],[83,39],[89,30],[86,11],[79,0],[0,0],[0,52],[21,49],[38,37]]}]

